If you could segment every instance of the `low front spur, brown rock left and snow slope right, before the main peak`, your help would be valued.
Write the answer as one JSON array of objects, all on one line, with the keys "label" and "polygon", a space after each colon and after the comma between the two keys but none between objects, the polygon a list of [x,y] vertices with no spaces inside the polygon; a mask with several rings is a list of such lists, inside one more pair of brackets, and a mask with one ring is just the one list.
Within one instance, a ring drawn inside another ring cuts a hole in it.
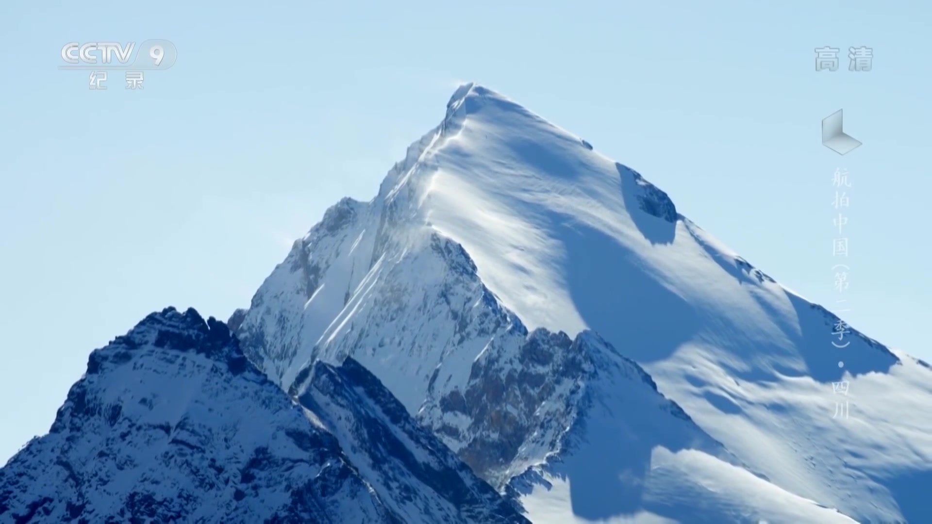
[{"label": "low front spur, brown rock left and snow slope right, before the main peak", "polygon": [[749,473],[590,331],[538,328],[517,351],[493,343],[465,391],[426,410],[449,422],[438,433],[466,416],[461,456],[539,524],[854,522]]}]

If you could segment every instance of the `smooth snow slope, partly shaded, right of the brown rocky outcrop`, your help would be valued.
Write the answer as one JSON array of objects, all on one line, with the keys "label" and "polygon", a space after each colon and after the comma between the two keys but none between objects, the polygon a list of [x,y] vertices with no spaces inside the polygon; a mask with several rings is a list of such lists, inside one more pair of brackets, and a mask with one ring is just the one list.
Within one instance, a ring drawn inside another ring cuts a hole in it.
[{"label": "smooth snow slope, partly shaded, right of the brown rocky outcrop", "polygon": [[596,334],[568,350],[554,356],[586,363],[575,416],[545,461],[547,446],[520,449],[514,463],[530,467],[508,486],[534,522],[855,522],[752,474]]}]

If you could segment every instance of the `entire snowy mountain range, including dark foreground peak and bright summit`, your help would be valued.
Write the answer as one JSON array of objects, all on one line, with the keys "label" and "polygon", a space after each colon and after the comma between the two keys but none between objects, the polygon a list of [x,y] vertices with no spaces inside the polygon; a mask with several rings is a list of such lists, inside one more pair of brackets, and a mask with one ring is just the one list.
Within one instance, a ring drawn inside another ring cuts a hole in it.
[{"label": "entire snowy mountain range, including dark foreground peak and bright summit", "polygon": [[481,86],[227,324],[93,352],[0,522],[932,522],[929,365]]}]

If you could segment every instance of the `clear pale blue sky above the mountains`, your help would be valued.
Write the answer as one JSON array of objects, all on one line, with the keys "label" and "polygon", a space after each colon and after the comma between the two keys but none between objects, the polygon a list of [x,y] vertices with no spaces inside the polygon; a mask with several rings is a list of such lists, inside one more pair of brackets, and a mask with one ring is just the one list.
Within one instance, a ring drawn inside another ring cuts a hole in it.
[{"label": "clear pale blue sky above the mountains", "polygon": [[[843,317],[932,359],[930,16],[866,1],[7,2],[0,462],[48,431],[89,352],[148,312],[248,305],[327,206],[375,195],[464,80],[637,169],[829,308],[831,175],[847,168]],[[178,62],[142,91],[57,69],[67,42],[149,38]],[[841,68],[817,73],[826,45]],[[847,71],[850,46],[874,49],[872,71]],[[845,157],[820,145],[839,108],[864,143]]]}]

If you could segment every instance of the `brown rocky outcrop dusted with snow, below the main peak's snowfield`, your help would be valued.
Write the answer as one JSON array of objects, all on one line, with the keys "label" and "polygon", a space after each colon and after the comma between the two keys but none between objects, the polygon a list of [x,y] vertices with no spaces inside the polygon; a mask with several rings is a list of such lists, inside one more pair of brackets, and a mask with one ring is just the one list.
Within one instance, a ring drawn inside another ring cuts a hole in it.
[{"label": "brown rocky outcrop dusted with snow, below the main peak's snowfield", "polygon": [[569,338],[543,328],[518,343],[490,344],[473,363],[466,387],[426,403],[423,420],[473,471],[507,491],[512,478],[559,461],[593,403],[623,388],[694,426],[657,392],[650,375],[595,333]]}]

